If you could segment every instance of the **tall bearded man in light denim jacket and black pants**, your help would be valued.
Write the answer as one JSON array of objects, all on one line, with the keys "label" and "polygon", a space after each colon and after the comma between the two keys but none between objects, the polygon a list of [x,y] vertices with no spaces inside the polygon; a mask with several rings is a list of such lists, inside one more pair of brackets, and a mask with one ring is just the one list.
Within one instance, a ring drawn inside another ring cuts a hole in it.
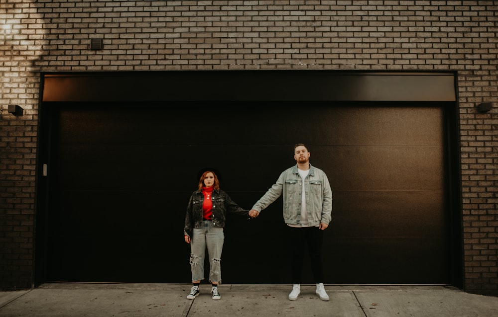
[{"label": "tall bearded man in light denim jacket and black pants", "polygon": [[311,269],[316,283],[316,294],[323,301],[329,296],[323,285],[322,241],[323,230],[331,221],[332,190],[325,172],[312,166],[310,153],[304,144],[294,146],[297,164],[284,170],[275,184],[252,206],[249,216],[257,217],[280,195],[283,195],[283,218],[292,244],[292,292],[295,301],[301,292],[304,249],[307,246]]}]

